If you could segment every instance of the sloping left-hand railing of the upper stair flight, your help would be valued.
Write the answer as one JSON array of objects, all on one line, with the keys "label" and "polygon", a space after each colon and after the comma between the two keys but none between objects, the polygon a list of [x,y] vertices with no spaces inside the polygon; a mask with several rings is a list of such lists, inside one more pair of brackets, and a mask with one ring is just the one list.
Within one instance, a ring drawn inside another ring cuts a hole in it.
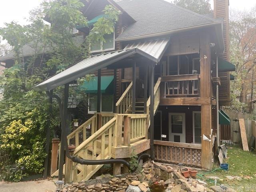
[{"label": "sloping left-hand railing of the upper stair flight", "polygon": [[125,114],[132,107],[132,82],[116,102],[116,113]]}]

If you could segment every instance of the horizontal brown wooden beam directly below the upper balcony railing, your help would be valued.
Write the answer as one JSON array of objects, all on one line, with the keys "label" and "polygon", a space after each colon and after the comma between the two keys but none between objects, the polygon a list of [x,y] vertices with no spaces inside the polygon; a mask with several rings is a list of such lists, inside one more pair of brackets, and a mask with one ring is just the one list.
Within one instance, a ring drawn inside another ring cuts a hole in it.
[{"label": "horizontal brown wooden beam directly below the upper balcony railing", "polygon": [[210,105],[210,97],[160,98],[159,105]]}]

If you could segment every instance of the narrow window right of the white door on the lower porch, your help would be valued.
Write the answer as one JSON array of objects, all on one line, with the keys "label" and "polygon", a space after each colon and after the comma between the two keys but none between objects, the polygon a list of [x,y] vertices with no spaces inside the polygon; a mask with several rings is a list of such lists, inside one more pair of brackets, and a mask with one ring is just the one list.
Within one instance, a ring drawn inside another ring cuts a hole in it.
[{"label": "narrow window right of the white door on the lower porch", "polygon": [[193,133],[194,143],[200,144],[202,141],[201,135],[201,112],[200,111],[193,111]]}]

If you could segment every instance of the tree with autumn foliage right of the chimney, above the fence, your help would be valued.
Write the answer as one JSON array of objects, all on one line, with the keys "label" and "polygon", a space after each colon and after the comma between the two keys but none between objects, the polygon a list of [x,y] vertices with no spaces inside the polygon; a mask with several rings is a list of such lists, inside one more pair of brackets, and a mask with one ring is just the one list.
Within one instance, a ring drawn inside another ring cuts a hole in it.
[{"label": "tree with autumn foliage right of the chimney, above the fence", "polygon": [[[231,82],[232,108],[252,112],[256,67],[256,9],[230,12],[230,60],[236,65]],[[250,95],[249,95],[250,94]],[[247,96],[249,95],[249,100]]]}]

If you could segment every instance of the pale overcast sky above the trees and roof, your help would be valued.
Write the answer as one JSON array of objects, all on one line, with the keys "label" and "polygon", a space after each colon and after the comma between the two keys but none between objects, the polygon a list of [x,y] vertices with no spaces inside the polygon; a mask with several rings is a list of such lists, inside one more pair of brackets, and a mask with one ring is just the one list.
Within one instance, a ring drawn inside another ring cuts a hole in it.
[{"label": "pale overcast sky above the trees and roof", "polygon": [[[173,0],[166,0],[172,2]],[[39,6],[42,0],[0,0],[0,27],[4,27],[4,22],[12,20],[19,24],[26,24],[29,10]],[[250,9],[256,5],[256,0],[229,0],[232,9]],[[213,6],[213,0],[211,0]]]}]

